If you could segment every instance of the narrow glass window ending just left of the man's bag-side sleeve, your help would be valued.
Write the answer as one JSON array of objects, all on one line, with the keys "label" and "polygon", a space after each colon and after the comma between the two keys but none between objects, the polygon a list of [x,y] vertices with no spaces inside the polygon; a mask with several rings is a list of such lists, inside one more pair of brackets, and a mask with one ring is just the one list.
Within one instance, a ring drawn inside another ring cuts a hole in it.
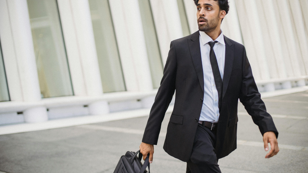
[{"label": "narrow glass window ending just left of the man's bag-side sleeve", "polygon": [[139,0],[139,8],[151,70],[153,88],[158,88],[160,86],[161,78],[163,77],[163,63],[161,61],[160,49],[150,1]]}]

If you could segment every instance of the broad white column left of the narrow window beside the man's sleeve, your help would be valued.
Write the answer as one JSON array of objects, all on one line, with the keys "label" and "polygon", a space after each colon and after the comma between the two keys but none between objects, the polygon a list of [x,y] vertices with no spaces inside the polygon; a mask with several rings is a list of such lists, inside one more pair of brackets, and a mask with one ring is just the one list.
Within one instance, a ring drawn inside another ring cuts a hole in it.
[{"label": "broad white column left of the narrow window beside the man's sleeve", "polygon": [[152,78],[138,0],[110,1],[128,91],[151,91]]}]

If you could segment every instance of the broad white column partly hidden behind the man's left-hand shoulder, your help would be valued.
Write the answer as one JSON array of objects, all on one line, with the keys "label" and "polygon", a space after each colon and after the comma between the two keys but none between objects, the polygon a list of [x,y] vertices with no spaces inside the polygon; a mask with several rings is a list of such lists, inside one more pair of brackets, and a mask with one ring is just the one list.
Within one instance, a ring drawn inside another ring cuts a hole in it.
[{"label": "broad white column partly hidden behind the man's left-hand shoulder", "polygon": [[150,0],[150,3],[156,25],[161,57],[165,65],[170,49],[170,42],[183,37],[177,1]]}]

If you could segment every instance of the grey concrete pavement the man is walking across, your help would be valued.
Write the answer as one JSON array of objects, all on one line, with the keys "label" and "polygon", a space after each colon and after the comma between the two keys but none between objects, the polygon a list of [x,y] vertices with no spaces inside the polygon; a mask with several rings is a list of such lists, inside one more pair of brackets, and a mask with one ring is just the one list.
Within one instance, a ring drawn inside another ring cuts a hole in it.
[{"label": "grey concrete pavement the man is walking across", "polygon": [[[308,172],[308,91],[264,99],[279,131],[280,152],[265,159],[262,136],[239,103],[237,149],[219,160],[223,173]],[[186,163],[164,152],[162,123],[151,172],[185,172]],[[7,173],[113,173],[121,155],[137,151],[148,116],[0,135],[0,171]],[[1,172],[0,172],[1,173]]]}]

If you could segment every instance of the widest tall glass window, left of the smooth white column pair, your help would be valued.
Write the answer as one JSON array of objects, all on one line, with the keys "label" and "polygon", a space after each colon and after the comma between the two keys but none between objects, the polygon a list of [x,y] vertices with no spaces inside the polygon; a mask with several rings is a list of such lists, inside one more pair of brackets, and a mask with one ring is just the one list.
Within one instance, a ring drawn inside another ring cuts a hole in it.
[{"label": "widest tall glass window, left of the smooth white column pair", "polygon": [[74,95],[56,0],[27,0],[42,98]]}]

